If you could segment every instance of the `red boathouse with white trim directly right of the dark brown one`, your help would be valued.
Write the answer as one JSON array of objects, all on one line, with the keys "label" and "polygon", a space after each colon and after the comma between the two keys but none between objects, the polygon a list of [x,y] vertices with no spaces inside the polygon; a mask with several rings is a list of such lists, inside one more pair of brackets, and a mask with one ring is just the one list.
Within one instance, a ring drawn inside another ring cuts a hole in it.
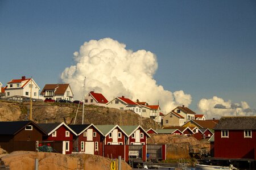
[{"label": "red boathouse with white trim directly right of the dark brown one", "polygon": [[62,154],[71,154],[73,150],[73,137],[77,136],[75,131],[64,122],[53,124],[38,124],[46,131],[43,141],[53,141],[53,148]]}]

